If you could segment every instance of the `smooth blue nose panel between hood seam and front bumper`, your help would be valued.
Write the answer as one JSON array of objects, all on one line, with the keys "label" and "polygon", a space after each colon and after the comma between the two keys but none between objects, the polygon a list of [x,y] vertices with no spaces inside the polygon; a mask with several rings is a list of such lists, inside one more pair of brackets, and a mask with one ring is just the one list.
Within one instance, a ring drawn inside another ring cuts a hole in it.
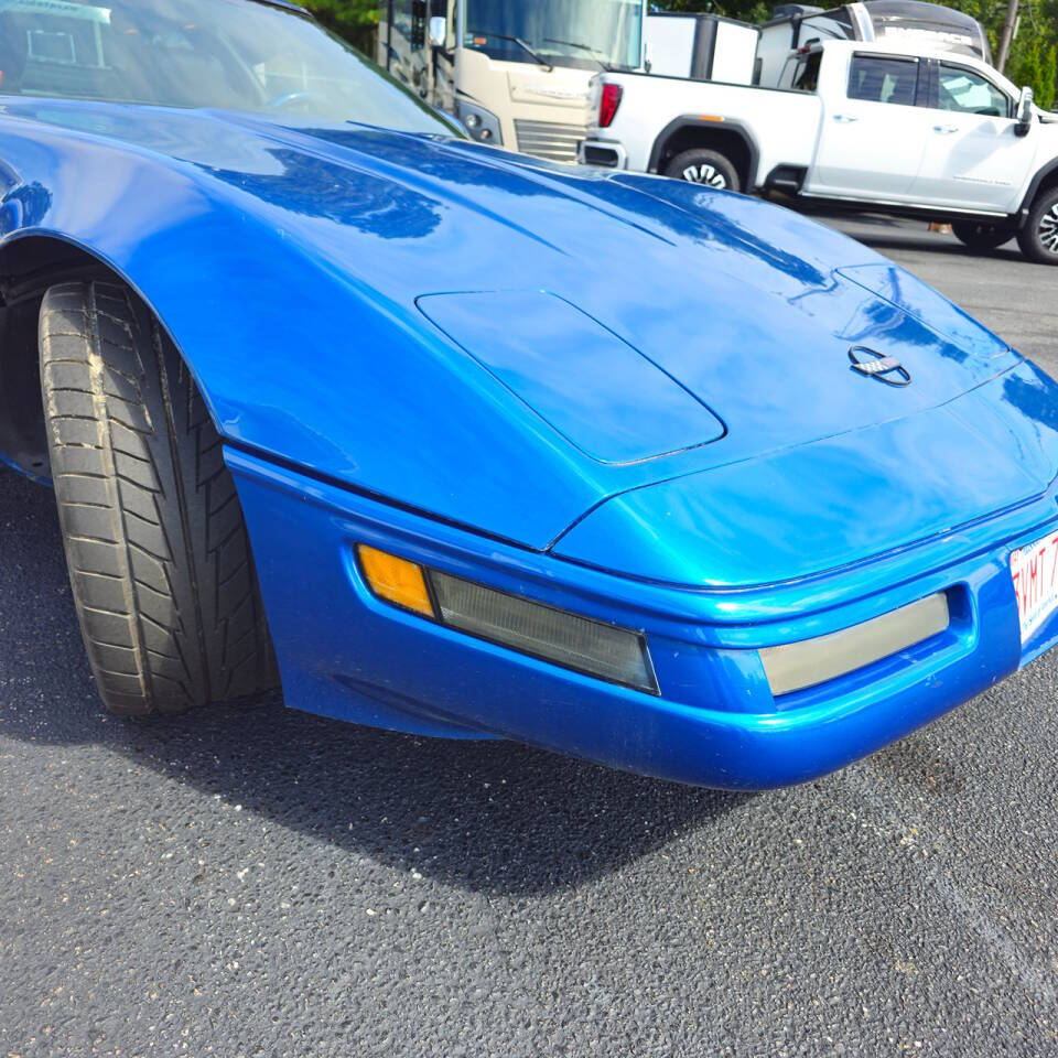
[{"label": "smooth blue nose panel between hood seam and front bumper", "polygon": [[[723,590],[802,581],[930,541],[948,565],[979,546],[971,527],[996,516],[998,539],[1052,523],[1056,477],[1058,386],[1023,363],[941,408],[625,493],[555,552]],[[994,547],[996,530],[984,531]]]}]

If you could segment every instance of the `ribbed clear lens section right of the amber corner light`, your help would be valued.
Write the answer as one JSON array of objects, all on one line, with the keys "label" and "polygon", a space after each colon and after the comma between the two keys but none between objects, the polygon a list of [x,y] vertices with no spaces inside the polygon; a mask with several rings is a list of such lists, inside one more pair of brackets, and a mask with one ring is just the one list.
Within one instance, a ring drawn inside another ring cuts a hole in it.
[{"label": "ribbed clear lens section right of the amber corner light", "polygon": [[446,573],[430,572],[446,625],[494,643],[623,683],[658,693],[650,656],[641,635],[580,617]]}]

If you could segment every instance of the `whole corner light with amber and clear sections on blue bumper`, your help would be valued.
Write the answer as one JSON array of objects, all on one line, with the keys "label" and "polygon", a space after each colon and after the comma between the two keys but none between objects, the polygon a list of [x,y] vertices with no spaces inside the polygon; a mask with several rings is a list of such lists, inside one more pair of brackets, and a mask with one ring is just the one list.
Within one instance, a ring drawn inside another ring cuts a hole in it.
[{"label": "whole corner light with amber and clear sections on blue bumper", "polygon": [[368,587],[387,603],[565,669],[659,693],[640,633],[507,595],[366,544],[356,550]]}]

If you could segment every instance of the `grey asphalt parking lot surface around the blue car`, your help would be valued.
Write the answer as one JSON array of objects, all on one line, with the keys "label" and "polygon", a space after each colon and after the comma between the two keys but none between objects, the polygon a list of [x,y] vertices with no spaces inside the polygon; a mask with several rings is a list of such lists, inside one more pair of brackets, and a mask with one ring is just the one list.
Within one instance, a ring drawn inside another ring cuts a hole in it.
[{"label": "grey asphalt parking lot surface around the blue car", "polygon": [[[840,226],[1058,371],[1058,270]],[[121,722],[0,472],[0,1056],[1058,1054],[1056,684],[752,797],[274,702]]]}]

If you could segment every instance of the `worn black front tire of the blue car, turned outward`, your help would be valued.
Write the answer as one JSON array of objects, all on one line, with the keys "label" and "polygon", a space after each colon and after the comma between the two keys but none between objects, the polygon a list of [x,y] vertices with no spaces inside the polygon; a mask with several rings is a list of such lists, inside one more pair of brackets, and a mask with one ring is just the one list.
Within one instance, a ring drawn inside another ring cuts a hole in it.
[{"label": "worn black front tire of the blue car, turned outward", "polygon": [[249,538],[220,440],[150,312],[111,282],[44,295],[41,385],[74,602],[126,716],[273,687]]}]

